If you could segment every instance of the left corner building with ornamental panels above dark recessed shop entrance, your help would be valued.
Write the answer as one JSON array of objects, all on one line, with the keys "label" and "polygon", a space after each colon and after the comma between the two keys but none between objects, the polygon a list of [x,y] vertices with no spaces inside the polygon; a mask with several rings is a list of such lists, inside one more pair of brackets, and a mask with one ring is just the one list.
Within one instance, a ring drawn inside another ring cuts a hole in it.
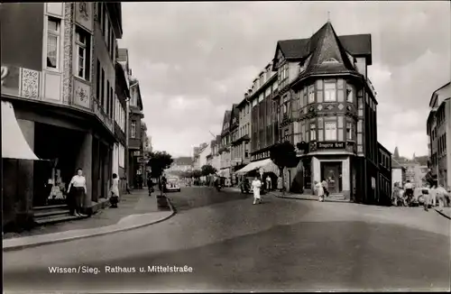
[{"label": "left corner building with ornamental panels above dark recessed shop entrance", "polygon": [[4,188],[4,224],[29,222],[41,207],[64,199],[78,168],[87,178],[84,206],[92,212],[106,198],[118,141],[115,43],[122,38],[121,5],[11,3],[0,9],[2,101],[17,119],[5,124],[18,124],[27,148],[44,160],[4,161],[4,183],[10,183]]}]

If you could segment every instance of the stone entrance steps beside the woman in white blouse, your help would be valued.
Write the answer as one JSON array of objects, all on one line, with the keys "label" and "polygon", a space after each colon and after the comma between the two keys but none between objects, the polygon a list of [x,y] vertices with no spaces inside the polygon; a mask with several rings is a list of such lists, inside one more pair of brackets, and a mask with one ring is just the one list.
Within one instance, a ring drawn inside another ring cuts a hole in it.
[{"label": "stone entrance steps beside the woman in white blouse", "polygon": [[88,216],[70,216],[67,205],[56,205],[47,207],[33,207],[34,222],[37,225],[49,225],[69,220],[86,218]]}]

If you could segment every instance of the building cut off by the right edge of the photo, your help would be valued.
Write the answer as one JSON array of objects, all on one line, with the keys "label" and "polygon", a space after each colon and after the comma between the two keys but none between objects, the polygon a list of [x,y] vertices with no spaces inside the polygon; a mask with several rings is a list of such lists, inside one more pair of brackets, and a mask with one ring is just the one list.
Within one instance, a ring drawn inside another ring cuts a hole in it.
[{"label": "building cut off by the right edge of the photo", "polygon": [[451,188],[451,84],[438,88],[429,101],[427,122],[429,167],[437,182]]}]

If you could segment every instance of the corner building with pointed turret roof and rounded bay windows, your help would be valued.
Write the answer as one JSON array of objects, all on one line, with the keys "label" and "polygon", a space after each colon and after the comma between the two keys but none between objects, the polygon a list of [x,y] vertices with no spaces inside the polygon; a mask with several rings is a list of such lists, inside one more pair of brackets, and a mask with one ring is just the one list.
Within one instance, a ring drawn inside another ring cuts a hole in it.
[{"label": "corner building with pointed turret roof and rounded bay windows", "polygon": [[371,64],[371,35],[338,37],[329,22],[309,39],[278,42],[274,69],[281,139],[297,148],[300,159],[288,170],[289,185],[296,180],[299,190],[313,193],[313,183],[326,179],[333,198],[378,203],[380,148],[377,101],[367,78]]}]

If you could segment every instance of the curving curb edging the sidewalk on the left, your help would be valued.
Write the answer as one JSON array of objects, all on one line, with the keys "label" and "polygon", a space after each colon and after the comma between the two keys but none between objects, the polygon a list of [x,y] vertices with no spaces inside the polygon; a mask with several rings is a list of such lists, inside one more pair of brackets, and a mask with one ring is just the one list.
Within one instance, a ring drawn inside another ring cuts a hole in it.
[{"label": "curving curb edging the sidewalk on the left", "polygon": [[5,245],[4,245],[3,252],[5,253],[5,252],[17,251],[17,250],[22,250],[22,249],[25,249],[25,248],[38,247],[38,246],[48,245],[48,244],[52,244],[52,243],[64,243],[64,242],[74,241],[74,240],[78,240],[78,239],[86,239],[86,238],[90,238],[90,237],[97,237],[97,236],[106,235],[106,234],[115,234],[115,233],[124,232],[124,231],[131,231],[131,230],[142,228],[142,227],[148,226],[148,225],[155,225],[155,224],[161,223],[161,222],[169,219],[172,216],[175,216],[176,213],[177,213],[176,210],[174,209],[174,207],[172,206],[172,203],[170,203],[170,199],[166,198],[166,200],[168,201],[168,204],[170,206],[170,212],[171,212],[170,215],[161,217],[160,219],[152,221],[151,223],[148,223],[148,224],[133,225],[133,226],[129,226],[129,227],[113,229],[111,231],[95,233],[95,234],[84,234],[84,235],[77,235],[77,236],[69,236],[69,237],[60,238],[60,239],[56,239],[56,240],[42,241],[42,242],[39,242],[39,243],[13,245],[13,246],[8,246],[8,247],[5,247]]}]

